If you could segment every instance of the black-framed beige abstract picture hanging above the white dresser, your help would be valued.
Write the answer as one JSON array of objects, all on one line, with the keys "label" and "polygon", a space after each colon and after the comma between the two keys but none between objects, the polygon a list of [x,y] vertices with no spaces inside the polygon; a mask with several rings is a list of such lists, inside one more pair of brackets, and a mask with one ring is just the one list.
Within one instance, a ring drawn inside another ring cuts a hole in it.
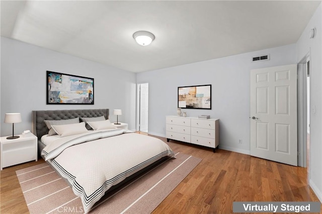
[{"label": "black-framed beige abstract picture hanging above the white dresser", "polygon": [[178,108],[211,110],[211,84],[178,87]]}]

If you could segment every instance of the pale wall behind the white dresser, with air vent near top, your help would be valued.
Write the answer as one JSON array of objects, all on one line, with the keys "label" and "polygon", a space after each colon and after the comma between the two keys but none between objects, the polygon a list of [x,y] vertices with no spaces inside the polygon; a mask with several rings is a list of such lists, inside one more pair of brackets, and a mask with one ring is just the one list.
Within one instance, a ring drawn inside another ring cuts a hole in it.
[{"label": "pale wall behind the white dresser, with air vent near top", "polygon": [[[271,60],[251,62],[252,57],[263,54],[270,54]],[[219,148],[250,154],[250,71],[295,64],[295,58],[293,44],[138,73],[137,83],[149,83],[149,133],[165,136],[165,116],[177,114],[178,86],[211,84],[212,110],[189,109],[187,115],[220,119]]]}]

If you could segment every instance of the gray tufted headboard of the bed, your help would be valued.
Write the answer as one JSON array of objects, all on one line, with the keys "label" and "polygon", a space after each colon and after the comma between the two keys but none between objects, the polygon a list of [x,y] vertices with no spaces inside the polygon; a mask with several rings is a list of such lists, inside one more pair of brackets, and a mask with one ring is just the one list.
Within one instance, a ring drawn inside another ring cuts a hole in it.
[{"label": "gray tufted headboard of the bed", "polygon": [[47,110],[32,111],[32,133],[38,137],[48,134],[44,120],[67,120],[73,118],[95,118],[104,116],[109,118],[109,109],[84,109],[84,110]]}]

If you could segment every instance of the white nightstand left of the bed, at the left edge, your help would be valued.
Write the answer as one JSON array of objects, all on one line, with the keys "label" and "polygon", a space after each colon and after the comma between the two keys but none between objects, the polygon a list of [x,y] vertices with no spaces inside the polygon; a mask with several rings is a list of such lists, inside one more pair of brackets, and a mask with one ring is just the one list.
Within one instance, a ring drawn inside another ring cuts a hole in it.
[{"label": "white nightstand left of the bed, at the left edge", "polygon": [[19,135],[17,139],[0,138],[0,170],[32,160],[38,160],[38,139],[32,134]]}]

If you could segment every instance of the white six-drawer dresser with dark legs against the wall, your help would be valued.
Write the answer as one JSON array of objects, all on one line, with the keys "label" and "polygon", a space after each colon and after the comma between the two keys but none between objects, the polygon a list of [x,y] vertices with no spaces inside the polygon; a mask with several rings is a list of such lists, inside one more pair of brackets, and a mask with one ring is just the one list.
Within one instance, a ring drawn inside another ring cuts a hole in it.
[{"label": "white six-drawer dresser with dark legs against the wall", "polygon": [[219,119],[166,116],[167,141],[177,140],[210,147],[219,145]]}]

